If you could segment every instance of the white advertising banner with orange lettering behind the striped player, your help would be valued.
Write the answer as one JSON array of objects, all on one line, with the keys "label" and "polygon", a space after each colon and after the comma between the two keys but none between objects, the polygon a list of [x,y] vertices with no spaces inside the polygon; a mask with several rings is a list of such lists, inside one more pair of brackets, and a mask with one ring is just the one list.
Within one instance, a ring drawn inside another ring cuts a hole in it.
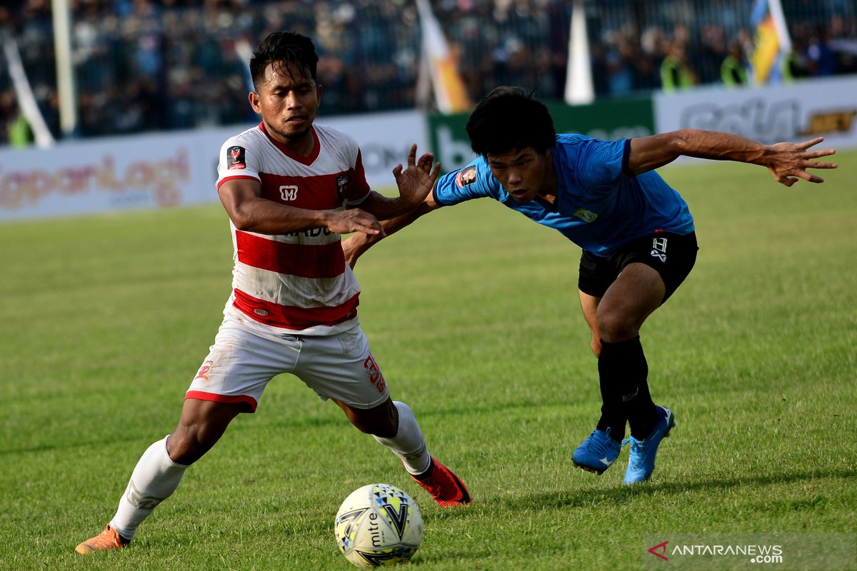
[{"label": "white advertising banner with orange lettering behind the striped player", "polygon": [[[319,118],[361,146],[369,185],[395,187],[411,144],[427,149],[417,111]],[[0,222],[217,201],[220,146],[241,126],[63,142],[0,151]]]}]

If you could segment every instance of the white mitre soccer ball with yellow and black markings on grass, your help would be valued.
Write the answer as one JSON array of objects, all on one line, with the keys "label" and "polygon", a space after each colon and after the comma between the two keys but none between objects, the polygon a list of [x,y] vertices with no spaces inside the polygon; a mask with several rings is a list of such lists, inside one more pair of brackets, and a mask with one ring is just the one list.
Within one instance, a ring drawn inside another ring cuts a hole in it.
[{"label": "white mitre soccer ball with yellow and black markings on grass", "polygon": [[339,506],[334,532],[339,550],[357,567],[393,565],[417,552],[423,541],[423,514],[396,486],[364,485]]}]

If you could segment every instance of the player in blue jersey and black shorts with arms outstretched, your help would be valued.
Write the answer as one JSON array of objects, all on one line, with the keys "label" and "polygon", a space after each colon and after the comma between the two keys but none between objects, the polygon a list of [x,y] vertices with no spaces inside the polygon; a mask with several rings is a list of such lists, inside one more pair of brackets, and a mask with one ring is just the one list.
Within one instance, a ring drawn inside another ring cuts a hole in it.
[{"label": "player in blue jersey and black shorts with arms outstretched", "polygon": [[[416,210],[382,223],[386,235],[441,206],[488,197],[581,247],[580,306],[592,331],[602,407],[572,461],[601,474],[630,442],[625,484],[649,479],[675,421],[651,399],[639,330],[690,273],[698,250],[686,202],[655,170],[680,156],[731,160],[767,167],[790,187],[799,178],[823,182],[807,169],[835,169],[811,160],[834,151],[810,150],[820,137],[767,146],[697,129],[618,141],[557,135],[547,108],[519,87],[498,87],[483,98],[467,134],[479,157],[441,176]],[[357,234],[345,241],[349,264],[383,237]],[[623,441],[626,424],[631,436]]]}]

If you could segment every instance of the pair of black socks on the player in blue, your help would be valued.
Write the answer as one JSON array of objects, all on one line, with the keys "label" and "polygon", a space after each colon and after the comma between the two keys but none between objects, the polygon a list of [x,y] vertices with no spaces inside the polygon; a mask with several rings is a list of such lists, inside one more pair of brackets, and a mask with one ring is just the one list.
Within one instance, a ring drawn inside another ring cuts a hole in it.
[{"label": "pair of black socks on the player in blue", "polygon": [[651,401],[646,377],[649,366],[639,337],[618,343],[602,340],[598,357],[601,384],[601,419],[598,428],[610,429],[610,437],[620,441],[625,436],[625,423],[631,425],[635,438],[649,435],[655,421],[655,404]]}]

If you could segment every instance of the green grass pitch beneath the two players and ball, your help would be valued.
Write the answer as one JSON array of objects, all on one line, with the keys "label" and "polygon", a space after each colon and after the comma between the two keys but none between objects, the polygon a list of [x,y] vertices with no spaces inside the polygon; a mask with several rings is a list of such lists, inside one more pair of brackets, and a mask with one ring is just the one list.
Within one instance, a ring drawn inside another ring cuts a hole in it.
[{"label": "green grass pitch beneath the two players and ball", "polygon": [[[474,503],[441,510],[386,449],[292,377],[269,385],[132,547],[81,557],[135,462],[174,427],[230,290],[219,205],[0,225],[0,569],[349,569],[333,515],[360,485],[423,509],[412,565],[626,569],[644,536],[849,532],[857,506],[857,153],[828,182],[663,170],[696,269],[645,324],[677,427],[650,483],[570,455],[599,407],[579,251],[489,200],[443,209],[357,265],[394,398]],[[782,568],[782,567],[778,567]]]}]

